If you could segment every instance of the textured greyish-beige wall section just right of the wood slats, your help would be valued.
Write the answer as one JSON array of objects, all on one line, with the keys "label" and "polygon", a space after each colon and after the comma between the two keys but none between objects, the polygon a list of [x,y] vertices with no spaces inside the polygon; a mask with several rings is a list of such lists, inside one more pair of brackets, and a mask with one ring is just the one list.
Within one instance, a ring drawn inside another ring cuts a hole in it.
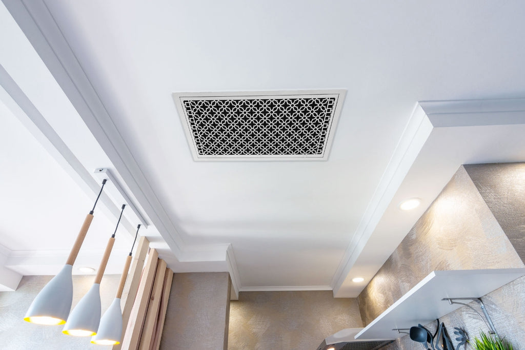
[{"label": "textured greyish-beige wall section just right of the wood slats", "polygon": [[175,273],[161,349],[226,349],[228,272]]}]

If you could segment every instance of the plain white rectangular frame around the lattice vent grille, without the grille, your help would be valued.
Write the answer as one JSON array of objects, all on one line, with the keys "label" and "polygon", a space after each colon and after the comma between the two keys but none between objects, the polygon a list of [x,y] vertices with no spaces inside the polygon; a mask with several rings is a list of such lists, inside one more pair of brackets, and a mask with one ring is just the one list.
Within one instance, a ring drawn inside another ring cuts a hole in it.
[{"label": "plain white rectangular frame around the lattice vent grille, without the grille", "polygon": [[[183,125],[184,132],[190,150],[195,161],[326,161],[332,147],[335,129],[339,121],[339,116],[343,107],[346,90],[295,90],[295,91],[242,91],[242,92],[175,92],[173,100],[175,102],[178,115]],[[197,145],[193,137],[188,115],[184,108],[186,100],[215,100],[215,99],[271,99],[271,98],[335,98],[335,108],[333,108],[330,118],[327,135],[324,138],[324,145],[321,154],[301,154],[301,155],[201,155],[197,152]]]}]

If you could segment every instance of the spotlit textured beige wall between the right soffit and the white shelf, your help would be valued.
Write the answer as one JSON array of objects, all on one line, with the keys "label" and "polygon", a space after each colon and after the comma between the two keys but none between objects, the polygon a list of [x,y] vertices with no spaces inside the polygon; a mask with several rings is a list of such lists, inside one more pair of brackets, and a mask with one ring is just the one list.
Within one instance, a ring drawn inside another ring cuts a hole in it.
[{"label": "spotlit textured beige wall between the right soffit and the white shelf", "polygon": [[359,295],[369,324],[433,270],[523,267],[463,167]]}]

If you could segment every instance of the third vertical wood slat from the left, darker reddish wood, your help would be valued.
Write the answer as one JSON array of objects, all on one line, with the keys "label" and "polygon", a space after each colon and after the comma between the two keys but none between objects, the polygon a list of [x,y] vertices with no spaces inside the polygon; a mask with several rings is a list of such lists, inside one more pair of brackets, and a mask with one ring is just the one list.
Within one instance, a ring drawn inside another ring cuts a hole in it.
[{"label": "third vertical wood slat from the left, darker reddish wood", "polygon": [[155,282],[148,304],[148,312],[144,322],[144,328],[140,338],[139,350],[148,350],[155,336],[155,328],[157,323],[157,316],[159,313],[159,305],[161,302],[162,287],[164,283],[164,276],[166,274],[166,262],[159,259],[157,270],[155,273]]}]

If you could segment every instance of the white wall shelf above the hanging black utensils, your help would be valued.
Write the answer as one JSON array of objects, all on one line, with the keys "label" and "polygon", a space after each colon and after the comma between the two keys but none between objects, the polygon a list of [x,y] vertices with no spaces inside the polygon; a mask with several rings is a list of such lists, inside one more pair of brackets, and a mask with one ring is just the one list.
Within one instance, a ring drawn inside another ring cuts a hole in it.
[{"label": "white wall shelf above the hanging black utensils", "polygon": [[443,298],[480,298],[522,275],[525,268],[433,271],[356,334],[355,339],[404,336],[392,329],[426,324],[461,307],[450,305]]}]

